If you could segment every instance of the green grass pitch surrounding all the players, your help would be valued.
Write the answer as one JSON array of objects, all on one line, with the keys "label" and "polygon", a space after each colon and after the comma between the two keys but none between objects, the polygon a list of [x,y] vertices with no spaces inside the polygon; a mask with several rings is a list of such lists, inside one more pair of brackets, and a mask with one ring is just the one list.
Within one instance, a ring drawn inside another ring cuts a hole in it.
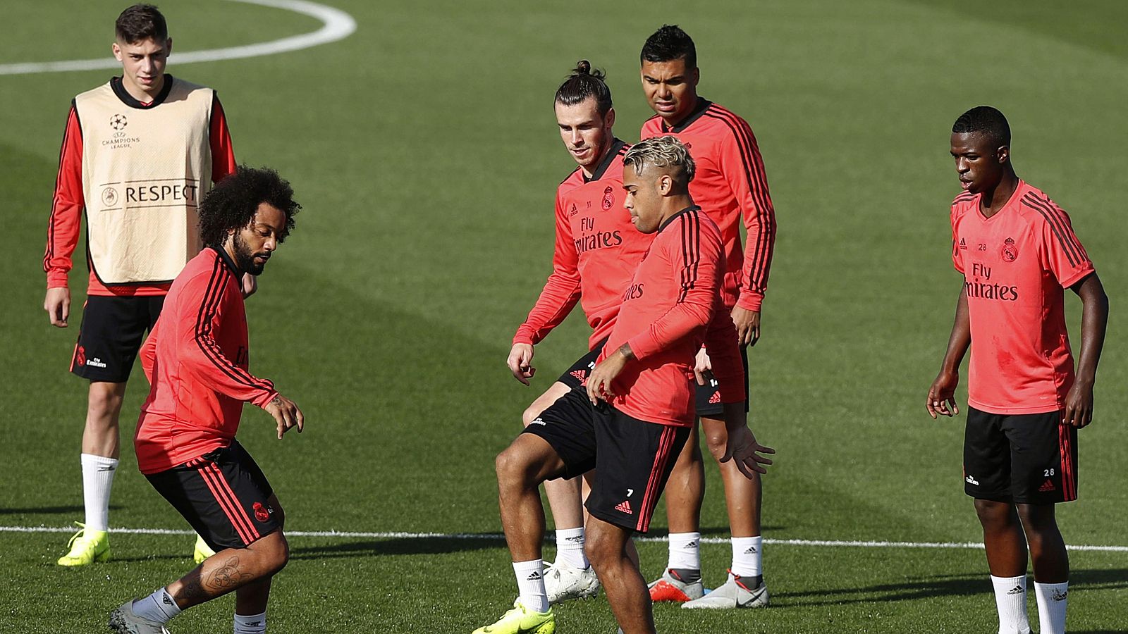
[{"label": "green grass pitch surrounding all the players", "polygon": [[[765,535],[979,539],[960,484],[962,415],[934,423],[922,402],[960,284],[949,263],[948,202],[959,190],[948,131],[961,112],[989,103],[1011,118],[1020,176],[1072,213],[1112,296],[1098,421],[1081,434],[1081,501],[1058,516],[1069,543],[1125,544],[1116,413],[1128,397],[1113,387],[1128,378],[1118,336],[1128,319],[1118,302],[1128,271],[1118,248],[1128,168],[1123,5],[1048,11],[1011,0],[977,15],[938,0],[707,10],[653,2],[642,12],[614,3],[335,6],[359,24],[343,42],[183,67],[174,56],[169,67],[219,90],[238,158],[277,168],[306,205],[248,314],[253,368],[303,407],[309,428],[277,442],[268,417],[248,410],[240,432],[291,529],[499,530],[493,456],[587,336],[575,316],[538,346],[537,389],[504,368],[512,331],[548,272],[554,187],[573,167],[550,96],[576,59],[591,59],[610,73],[617,133],[636,140],[650,115],[637,52],[667,21],[697,41],[700,94],[756,130],[778,210],[764,336],[751,354],[754,429],[779,450],[765,479]],[[97,56],[122,7],[99,0],[63,14],[16,0],[12,15],[23,17],[0,61]],[[218,0],[164,9],[178,51],[315,27]],[[0,77],[7,526],[63,526],[82,514],[83,386],[65,367],[85,278],[72,274],[72,325],[58,332],[41,308],[39,264],[67,104],[108,76]],[[1070,298],[1075,345],[1077,307]],[[111,523],[183,528],[127,448],[144,391],[138,372]],[[724,537],[720,482],[714,467],[707,473],[703,525]],[[655,518],[661,531],[664,507]],[[98,631],[112,607],[191,566],[186,536],[114,536],[115,561],[82,570],[54,566],[64,544],[59,534],[0,536],[5,631]],[[499,540],[291,545],[271,604],[274,633],[467,632],[496,618],[515,592]],[[641,551],[653,578],[664,546]],[[711,585],[722,581],[728,551],[703,549]],[[659,606],[659,628],[994,628],[978,551],[769,546],[765,556],[773,608],[703,615]],[[1075,552],[1072,563],[1070,631],[1128,629],[1128,554]],[[219,600],[173,631],[229,631],[230,614],[231,600]],[[561,608],[559,627],[611,632],[614,620],[598,599]]]}]

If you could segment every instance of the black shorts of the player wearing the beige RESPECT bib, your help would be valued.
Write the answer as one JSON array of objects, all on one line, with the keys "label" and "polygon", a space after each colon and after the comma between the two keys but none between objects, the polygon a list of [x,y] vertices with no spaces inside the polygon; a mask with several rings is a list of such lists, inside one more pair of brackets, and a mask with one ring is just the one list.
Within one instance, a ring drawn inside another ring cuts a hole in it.
[{"label": "black shorts of the player wearing the beige RESPECT bib", "polygon": [[71,358],[71,372],[91,381],[123,384],[165,305],[165,296],[89,296]]}]

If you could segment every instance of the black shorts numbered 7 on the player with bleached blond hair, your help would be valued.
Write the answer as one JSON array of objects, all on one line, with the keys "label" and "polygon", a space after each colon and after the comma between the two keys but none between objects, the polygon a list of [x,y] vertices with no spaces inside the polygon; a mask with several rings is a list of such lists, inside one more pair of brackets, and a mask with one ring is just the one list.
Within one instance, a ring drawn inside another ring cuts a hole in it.
[{"label": "black shorts numbered 7 on the player with bleached blond hair", "polygon": [[540,413],[525,432],[538,435],[564,461],[561,477],[596,469],[584,504],[592,516],[646,532],[689,428],[647,423],[573,389]]}]

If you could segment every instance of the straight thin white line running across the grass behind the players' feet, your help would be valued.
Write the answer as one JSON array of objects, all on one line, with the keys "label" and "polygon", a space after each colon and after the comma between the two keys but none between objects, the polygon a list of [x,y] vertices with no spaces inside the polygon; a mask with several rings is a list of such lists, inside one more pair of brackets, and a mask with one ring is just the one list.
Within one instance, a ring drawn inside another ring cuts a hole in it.
[{"label": "straight thin white line running across the grass behind the players' feet", "polygon": [[[125,535],[195,535],[191,530],[173,528],[111,528],[111,532]],[[73,527],[56,526],[0,526],[0,532],[74,532]],[[368,537],[374,539],[467,539],[501,541],[505,538],[500,532],[399,532],[399,531],[347,531],[347,530],[288,530],[287,537]],[[637,537],[638,541],[666,541],[664,537]],[[723,537],[703,537],[703,544],[728,544]],[[813,546],[813,547],[854,547],[854,548],[973,548],[981,549],[977,541],[863,541],[848,539],[765,539],[769,546]],[[1128,546],[1086,546],[1069,544],[1069,551],[1090,551],[1101,553],[1128,553]]]}]

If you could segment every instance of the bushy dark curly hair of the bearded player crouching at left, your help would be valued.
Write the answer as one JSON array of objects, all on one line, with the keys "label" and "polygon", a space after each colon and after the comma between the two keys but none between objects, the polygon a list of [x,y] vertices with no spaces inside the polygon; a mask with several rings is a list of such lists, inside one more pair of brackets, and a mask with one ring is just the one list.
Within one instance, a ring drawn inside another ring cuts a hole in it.
[{"label": "bushy dark curly hair of the bearded player crouching at left", "polygon": [[276,206],[285,214],[285,240],[293,230],[293,217],[301,205],[293,200],[290,183],[268,167],[256,169],[240,165],[235,174],[215,184],[196,209],[200,217],[200,239],[210,247],[222,247],[227,232],[250,224],[261,203]]}]

